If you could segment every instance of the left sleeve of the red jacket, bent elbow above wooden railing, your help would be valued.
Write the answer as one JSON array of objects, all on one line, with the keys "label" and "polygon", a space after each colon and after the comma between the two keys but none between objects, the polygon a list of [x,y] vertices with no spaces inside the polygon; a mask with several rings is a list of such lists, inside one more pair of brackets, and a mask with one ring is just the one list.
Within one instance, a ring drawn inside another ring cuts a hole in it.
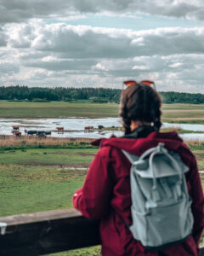
[{"label": "left sleeve of the red jacket, bent elbow above wooden railing", "polygon": [[102,218],[110,209],[111,165],[108,155],[101,148],[89,167],[82,189],[73,195],[73,205],[87,218]]}]

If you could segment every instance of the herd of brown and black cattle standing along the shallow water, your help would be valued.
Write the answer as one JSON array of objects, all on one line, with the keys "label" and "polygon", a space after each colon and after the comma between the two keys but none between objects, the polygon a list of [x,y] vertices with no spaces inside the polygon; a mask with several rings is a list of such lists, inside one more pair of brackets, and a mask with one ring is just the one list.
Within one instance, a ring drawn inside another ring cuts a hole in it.
[{"label": "herd of brown and black cattle standing along the shallow water", "polygon": [[[102,130],[104,129],[105,127],[103,125],[98,125],[98,129],[99,130]],[[58,133],[63,133],[65,130],[64,130],[64,127],[56,127],[56,130]],[[94,131],[94,126],[85,126],[84,127],[84,131]],[[25,134],[28,135],[28,136],[37,136],[37,137],[47,137],[48,135],[51,135],[51,131],[36,131],[36,130],[30,130],[30,131],[27,131],[27,130],[24,130]],[[21,137],[22,135],[22,132],[20,131],[20,126],[18,125],[14,125],[13,126],[13,130],[12,130],[12,133],[16,136],[16,137]]]}]

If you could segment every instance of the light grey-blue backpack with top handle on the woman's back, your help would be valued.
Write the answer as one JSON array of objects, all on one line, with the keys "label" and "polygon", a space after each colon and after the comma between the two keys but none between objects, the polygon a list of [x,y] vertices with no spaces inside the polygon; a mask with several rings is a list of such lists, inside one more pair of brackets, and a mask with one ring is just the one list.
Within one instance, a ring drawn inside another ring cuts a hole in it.
[{"label": "light grey-blue backpack with top handle on the woman's back", "polygon": [[144,247],[160,249],[184,241],[193,227],[191,200],[179,155],[159,143],[140,157],[122,150],[132,163],[130,230]]}]

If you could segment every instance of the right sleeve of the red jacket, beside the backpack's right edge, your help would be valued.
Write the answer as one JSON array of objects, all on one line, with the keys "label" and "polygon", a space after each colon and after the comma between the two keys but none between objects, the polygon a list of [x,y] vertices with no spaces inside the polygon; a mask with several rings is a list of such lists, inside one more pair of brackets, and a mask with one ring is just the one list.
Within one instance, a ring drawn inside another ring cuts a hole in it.
[{"label": "right sleeve of the red jacket, beside the backpack's right edge", "polygon": [[204,197],[201,187],[201,178],[199,176],[196,160],[191,162],[191,170],[189,173],[190,196],[192,199],[192,213],[194,217],[194,226],[192,236],[194,237],[197,247],[204,227]]}]

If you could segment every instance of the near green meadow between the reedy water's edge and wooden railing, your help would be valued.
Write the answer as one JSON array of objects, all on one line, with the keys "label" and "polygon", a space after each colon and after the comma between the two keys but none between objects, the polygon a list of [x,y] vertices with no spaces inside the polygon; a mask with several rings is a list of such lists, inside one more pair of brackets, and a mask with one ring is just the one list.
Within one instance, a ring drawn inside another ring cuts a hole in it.
[{"label": "near green meadow between the reedy water's edge and wooden railing", "polygon": [[[72,207],[71,197],[82,186],[98,150],[80,147],[0,151],[0,215]],[[191,148],[203,170],[203,144]],[[90,247],[52,255],[98,256],[99,251],[99,247]]]}]

